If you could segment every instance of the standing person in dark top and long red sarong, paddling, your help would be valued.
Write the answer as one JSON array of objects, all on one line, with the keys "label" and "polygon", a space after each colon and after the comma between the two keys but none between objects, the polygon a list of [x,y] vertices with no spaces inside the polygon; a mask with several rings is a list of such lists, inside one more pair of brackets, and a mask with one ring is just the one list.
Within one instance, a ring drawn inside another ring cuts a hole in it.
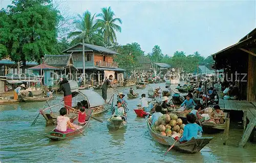
[{"label": "standing person in dark top and long red sarong, paddling", "polygon": [[65,104],[65,108],[67,109],[68,114],[70,113],[70,108],[72,107],[72,93],[71,93],[71,88],[70,88],[70,84],[69,81],[64,78],[60,78],[61,84],[59,86],[59,91],[63,91],[63,95],[64,95],[64,104]]}]

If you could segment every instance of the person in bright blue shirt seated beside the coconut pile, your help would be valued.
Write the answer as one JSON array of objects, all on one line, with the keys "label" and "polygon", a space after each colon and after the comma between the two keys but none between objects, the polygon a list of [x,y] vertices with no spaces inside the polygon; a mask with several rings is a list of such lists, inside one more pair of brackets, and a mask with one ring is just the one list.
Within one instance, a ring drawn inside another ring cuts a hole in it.
[{"label": "person in bright blue shirt seated beside the coconut pile", "polygon": [[180,142],[190,141],[193,137],[197,138],[198,134],[200,135],[200,133],[203,132],[202,127],[195,123],[197,120],[195,114],[189,113],[186,115],[186,118],[188,124],[184,127],[183,136],[181,138],[178,136],[175,137],[175,139]]}]

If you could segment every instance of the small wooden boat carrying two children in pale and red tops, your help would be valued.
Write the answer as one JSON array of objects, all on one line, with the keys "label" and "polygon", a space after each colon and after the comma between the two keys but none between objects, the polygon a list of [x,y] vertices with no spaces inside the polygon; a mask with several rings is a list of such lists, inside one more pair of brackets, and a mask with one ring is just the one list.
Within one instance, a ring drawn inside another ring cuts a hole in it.
[{"label": "small wooden boat carrying two children in pale and red tops", "polygon": [[[93,113],[93,110],[86,109],[86,114],[87,115],[92,115],[92,113]],[[73,123],[73,125],[77,130],[79,130],[80,132],[83,132],[85,129],[88,128],[90,119],[91,119],[91,117],[87,116],[86,117],[86,123],[84,125],[76,125],[74,123]],[[59,140],[62,140],[62,139],[66,139],[67,137],[70,137],[70,136],[81,134],[77,130],[73,130],[73,131],[68,132],[68,133],[55,132],[54,130],[55,129],[53,129],[48,135],[45,135],[46,137],[52,139],[53,141],[59,141]]]}]

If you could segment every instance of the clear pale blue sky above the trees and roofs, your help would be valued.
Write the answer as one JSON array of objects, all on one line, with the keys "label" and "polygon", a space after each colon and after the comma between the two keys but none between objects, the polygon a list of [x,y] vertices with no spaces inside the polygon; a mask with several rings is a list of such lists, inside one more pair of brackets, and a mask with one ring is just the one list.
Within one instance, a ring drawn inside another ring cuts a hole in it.
[{"label": "clear pale blue sky above the trees and roofs", "polygon": [[[0,0],[0,8],[6,8],[10,2]],[[184,51],[187,55],[198,51],[207,57],[237,43],[256,28],[255,0],[64,0],[60,9],[77,15],[86,10],[100,13],[101,8],[109,6],[123,22],[117,42],[122,45],[138,42],[145,53],[159,45],[162,53],[170,56],[175,51]]]}]

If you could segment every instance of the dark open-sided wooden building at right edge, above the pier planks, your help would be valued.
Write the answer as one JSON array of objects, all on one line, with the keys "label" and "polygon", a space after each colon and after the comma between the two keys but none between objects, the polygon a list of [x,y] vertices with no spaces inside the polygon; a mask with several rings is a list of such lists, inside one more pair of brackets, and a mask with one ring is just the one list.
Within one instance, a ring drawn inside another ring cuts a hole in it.
[{"label": "dark open-sided wooden building at right edge, above the pier planks", "polygon": [[256,101],[256,28],[238,43],[215,53],[216,69],[224,69],[225,81],[239,83],[239,99]]}]

